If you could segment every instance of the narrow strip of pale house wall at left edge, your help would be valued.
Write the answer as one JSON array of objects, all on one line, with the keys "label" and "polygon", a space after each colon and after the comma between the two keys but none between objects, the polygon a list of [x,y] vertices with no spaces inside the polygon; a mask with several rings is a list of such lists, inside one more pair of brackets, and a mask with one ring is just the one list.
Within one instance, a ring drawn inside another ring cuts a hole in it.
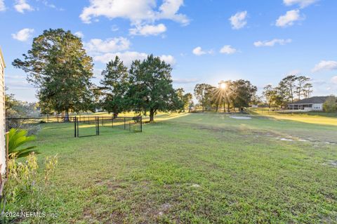
[{"label": "narrow strip of pale house wall at left edge", "polygon": [[0,48],[0,164],[1,173],[6,171],[6,116],[5,116],[5,61]]}]

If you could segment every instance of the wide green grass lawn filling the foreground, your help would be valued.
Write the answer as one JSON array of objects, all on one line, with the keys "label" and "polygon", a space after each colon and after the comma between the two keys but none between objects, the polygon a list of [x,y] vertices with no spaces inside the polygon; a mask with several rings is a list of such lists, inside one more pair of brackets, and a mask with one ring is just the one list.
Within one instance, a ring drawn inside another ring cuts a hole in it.
[{"label": "wide green grass lawn filling the foreground", "polygon": [[34,145],[59,164],[36,209],[58,218],[23,221],[337,223],[337,119],[284,116],[161,114],[87,138],[46,124]]}]

